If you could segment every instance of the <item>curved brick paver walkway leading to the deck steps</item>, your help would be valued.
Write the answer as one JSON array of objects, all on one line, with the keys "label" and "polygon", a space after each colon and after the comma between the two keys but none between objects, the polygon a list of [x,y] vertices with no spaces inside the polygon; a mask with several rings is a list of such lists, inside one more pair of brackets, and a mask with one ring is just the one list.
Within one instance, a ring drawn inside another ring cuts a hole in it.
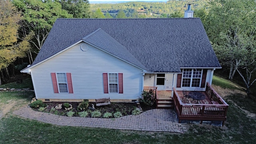
[{"label": "curved brick paver walkway leading to the deck steps", "polygon": [[56,124],[60,126],[85,126],[95,128],[112,128],[119,130],[141,130],[157,132],[179,132],[186,131],[184,124],[179,124],[174,110],[154,109],[143,112],[138,116],[123,116],[121,118],[80,118],[58,116],[54,114],[38,112],[25,106],[13,112],[18,116]]}]

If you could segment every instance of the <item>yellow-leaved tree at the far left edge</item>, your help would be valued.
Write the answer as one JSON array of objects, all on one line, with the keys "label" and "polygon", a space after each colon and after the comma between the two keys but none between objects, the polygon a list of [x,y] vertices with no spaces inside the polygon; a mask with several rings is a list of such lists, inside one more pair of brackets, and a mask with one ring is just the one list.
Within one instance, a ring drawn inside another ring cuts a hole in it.
[{"label": "yellow-leaved tree at the far left edge", "polygon": [[[27,40],[30,37],[18,39],[18,22],[22,19],[21,12],[16,10],[10,0],[0,0],[0,70],[16,60],[23,58],[30,48]],[[1,80],[0,80],[1,84]]]}]

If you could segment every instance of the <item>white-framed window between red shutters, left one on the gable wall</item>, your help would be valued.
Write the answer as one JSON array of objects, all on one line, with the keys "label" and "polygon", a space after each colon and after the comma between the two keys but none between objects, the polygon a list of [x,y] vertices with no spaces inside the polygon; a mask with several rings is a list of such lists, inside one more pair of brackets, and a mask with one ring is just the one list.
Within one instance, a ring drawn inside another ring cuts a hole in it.
[{"label": "white-framed window between red shutters, left one on the gable wall", "polygon": [[60,93],[68,93],[68,82],[66,73],[56,73],[58,90]]}]

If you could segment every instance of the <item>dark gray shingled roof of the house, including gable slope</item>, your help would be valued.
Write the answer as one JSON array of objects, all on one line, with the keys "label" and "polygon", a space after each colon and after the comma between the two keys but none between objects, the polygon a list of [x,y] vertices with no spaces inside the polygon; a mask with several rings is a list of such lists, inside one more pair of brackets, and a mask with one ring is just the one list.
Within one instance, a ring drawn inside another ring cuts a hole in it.
[{"label": "dark gray shingled roof of the house, including gable slope", "polygon": [[57,19],[32,65],[83,38],[149,72],[221,67],[199,18]]}]

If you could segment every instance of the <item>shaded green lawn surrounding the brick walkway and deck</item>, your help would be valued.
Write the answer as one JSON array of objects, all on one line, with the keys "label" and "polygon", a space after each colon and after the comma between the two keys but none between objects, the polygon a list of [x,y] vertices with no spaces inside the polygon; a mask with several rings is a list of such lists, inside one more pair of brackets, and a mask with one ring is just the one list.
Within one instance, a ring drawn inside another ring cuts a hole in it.
[{"label": "shaded green lawn surrounding the brick walkway and deck", "polygon": [[[29,102],[31,92],[2,92],[0,104],[6,100]],[[140,132],[56,126],[28,120],[10,112],[0,120],[0,144],[253,144],[256,142],[256,118],[248,118],[241,110],[256,113],[255,102],[241,95],[224,98],[229,104],[223,127],[190,124],[184,134]]]}]

